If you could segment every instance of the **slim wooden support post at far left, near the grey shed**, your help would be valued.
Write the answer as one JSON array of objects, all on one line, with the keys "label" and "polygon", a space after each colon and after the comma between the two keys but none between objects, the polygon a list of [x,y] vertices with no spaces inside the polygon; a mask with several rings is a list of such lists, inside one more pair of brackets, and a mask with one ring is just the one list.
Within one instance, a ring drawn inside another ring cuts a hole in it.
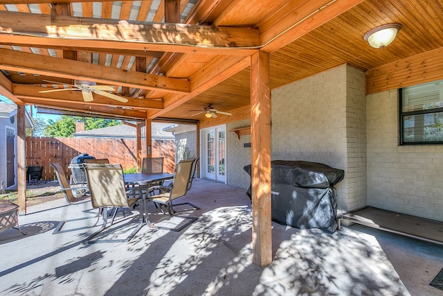
[{"label": "slim wooden support post at far left, near the grey shed", "polygon": [[17,193],[19,215],[26,215],[26,110],[17,105]]}]

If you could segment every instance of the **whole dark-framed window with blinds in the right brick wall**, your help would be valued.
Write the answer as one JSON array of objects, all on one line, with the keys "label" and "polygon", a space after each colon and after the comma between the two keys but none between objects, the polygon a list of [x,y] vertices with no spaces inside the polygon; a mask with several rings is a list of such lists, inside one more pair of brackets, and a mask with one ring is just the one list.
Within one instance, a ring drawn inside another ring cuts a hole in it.
[{"label": "whole dark-framed window with blinds in the right brick wall", "polygon": [[400,145],[443,144],[443,80],[399,92]]}]

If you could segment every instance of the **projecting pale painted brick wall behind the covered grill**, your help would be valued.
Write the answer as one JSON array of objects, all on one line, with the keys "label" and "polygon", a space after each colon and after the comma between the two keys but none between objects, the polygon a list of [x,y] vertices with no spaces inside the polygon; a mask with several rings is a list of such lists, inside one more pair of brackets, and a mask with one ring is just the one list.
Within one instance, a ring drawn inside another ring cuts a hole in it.
[{"label": "projecting pale painted brick wall behind the covered grill", "polygon": [[345,170],[338,209],[366,205],[365,78],[347,65],[272,92],[271,159]]}]

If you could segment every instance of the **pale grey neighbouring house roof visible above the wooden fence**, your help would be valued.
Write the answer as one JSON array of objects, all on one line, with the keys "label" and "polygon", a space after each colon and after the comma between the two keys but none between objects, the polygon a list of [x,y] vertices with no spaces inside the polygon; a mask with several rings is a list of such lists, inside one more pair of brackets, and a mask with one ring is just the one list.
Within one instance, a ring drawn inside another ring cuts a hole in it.
[{"label": "pale grey neighbouring house roof visible above the wooden fence", "polygon": [[[163,131],[163,123],[152,123],[152,139],[174,139],[172,132]],[[74,137],[90,138],[120,138],[135,139],[136,128],[130,125],[115,125],[107,128],[96,128],[95,130],[84,130],[83,132],[74,132]]]}]

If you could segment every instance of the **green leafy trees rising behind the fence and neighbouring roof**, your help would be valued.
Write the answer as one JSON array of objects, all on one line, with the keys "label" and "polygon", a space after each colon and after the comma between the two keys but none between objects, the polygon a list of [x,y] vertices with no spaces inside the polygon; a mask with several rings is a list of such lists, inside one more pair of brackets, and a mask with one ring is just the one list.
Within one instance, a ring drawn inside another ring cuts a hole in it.
[{"label": "green leafy trees rising behind the fence and neighbouring roof", "polygon": [[92,117],[80,116],[60,116],[60,119],[53,121],[48,120],[48,125],[44,128],[46,137],[73,137],[75,132],[75,122],[84,122],[84,130],[94,130],[96,128],[106,128],[108,126],[120,125],[120,121],[116,119],[96,119]]}]

